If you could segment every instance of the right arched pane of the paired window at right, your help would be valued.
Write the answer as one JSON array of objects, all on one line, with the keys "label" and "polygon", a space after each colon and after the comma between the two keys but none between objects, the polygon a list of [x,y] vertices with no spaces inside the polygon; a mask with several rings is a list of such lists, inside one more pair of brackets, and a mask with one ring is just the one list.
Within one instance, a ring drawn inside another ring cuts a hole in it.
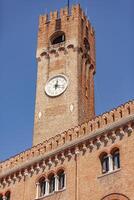
[{"label": "right arched pane of the paired window at right", "polygon": [[115,149],[112,152],[112,160],[113,160],[113,170],[120,168],[120,153],[119,149]]}]

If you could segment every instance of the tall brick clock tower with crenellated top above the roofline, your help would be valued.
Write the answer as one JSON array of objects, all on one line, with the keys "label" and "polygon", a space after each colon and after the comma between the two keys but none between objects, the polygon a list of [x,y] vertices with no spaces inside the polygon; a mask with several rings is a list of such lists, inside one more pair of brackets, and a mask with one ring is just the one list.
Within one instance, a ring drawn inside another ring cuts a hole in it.
[{"label": "tall brick clock tower with crenellated top above the roofline", "polygon": [[40,16],[33,145],[95,116],[95,33],[79,5]]}]

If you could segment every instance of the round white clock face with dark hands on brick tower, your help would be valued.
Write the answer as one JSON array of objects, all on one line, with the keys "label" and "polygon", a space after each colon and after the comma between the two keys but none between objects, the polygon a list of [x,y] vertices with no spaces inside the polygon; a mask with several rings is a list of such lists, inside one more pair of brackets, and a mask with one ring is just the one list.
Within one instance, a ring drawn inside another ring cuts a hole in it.
[{"label": "round white clock face with dark hands on brick tower", "polygon": [[66,76],[59,74],[50,78],[45,86],[45,92],[50,97],[59,96],[68,86],[68,79]]}]

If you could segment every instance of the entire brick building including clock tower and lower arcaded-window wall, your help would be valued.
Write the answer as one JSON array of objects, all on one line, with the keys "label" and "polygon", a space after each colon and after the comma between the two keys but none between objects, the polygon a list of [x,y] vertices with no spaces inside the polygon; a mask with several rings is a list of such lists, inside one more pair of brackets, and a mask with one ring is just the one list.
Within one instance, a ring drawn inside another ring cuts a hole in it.
[{"label": "entire brick building including clock tower and lower arcaded-window wall", "polygon": [[40,16],[32,148],[0,163],[0,200],[133,200],[134,101],[95,116],[95,33],[80,5]]}]

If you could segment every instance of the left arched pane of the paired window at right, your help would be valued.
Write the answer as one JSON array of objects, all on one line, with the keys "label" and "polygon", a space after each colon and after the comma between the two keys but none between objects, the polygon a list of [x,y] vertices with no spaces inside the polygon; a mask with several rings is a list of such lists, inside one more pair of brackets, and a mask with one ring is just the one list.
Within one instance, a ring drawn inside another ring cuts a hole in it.
[{"label": "left arched pane of the paired window at right", "polygon": [[100,156],[101,166],[102,166],[102,173],[107,173],[109,171],[109,157],[107,153],[103,153]]}]

